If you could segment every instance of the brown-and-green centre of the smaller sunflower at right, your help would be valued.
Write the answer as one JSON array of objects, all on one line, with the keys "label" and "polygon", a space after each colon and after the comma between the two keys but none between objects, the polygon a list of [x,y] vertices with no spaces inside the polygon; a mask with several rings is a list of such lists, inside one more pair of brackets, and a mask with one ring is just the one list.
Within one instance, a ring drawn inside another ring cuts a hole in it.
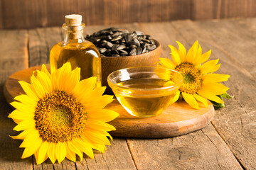
[{"label": "brown-and-green centre of the smaller sunflower at right", "polygon": [[183,84],[179,91],[187,94],[196,94],[201,89],[202,75],[200,70],[196,69],[193,64],[183,62],[175,69],[183,75]]}]

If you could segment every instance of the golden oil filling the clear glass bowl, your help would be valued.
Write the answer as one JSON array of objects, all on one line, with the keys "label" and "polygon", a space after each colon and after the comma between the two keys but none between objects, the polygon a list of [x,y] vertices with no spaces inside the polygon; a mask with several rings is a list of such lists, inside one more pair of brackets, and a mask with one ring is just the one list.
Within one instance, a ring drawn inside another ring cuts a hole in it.
[{"label": "golden oil filling the clear glass bowl", "polygon": [[171,90],[163,88],[170,84],[173,82],[164,79],[129,79],[117,84],[123,87],[122,90],[113,91],[128,113],[149,118],[159,115],[171,104],[178,87],[174,86]]}]

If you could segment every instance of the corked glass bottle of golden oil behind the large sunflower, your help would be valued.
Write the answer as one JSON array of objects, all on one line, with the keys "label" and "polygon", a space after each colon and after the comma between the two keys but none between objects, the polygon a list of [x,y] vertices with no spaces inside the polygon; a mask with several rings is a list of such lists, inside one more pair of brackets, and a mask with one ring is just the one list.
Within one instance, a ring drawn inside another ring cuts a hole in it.
[{"label": "corked glass bottle of golden oil behind the large sunflower", "polygon": [[66,62],[70,62],[72,69],[80,67],[81,79],[97,77],[96,86],[101,86],[101,58],[100,52],[92,42],[83,36],[82,16],[65,16],[63,24],[64,40],[58,42],[50,50],[50,69],[58,69]]}]

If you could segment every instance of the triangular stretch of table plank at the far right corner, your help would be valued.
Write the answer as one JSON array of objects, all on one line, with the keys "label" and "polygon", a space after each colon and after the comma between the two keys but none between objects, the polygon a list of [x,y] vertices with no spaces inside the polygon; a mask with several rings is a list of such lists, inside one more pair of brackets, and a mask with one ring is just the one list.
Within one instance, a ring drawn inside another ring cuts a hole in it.
[{"label": "triangular stretch of table plank at the far right corner", "polygon": [[[256,78],[256,18],[196,22],[210,32],[212,40],[223,47],[228,55]],[[230,44],[232,42],[232,44]]]}]

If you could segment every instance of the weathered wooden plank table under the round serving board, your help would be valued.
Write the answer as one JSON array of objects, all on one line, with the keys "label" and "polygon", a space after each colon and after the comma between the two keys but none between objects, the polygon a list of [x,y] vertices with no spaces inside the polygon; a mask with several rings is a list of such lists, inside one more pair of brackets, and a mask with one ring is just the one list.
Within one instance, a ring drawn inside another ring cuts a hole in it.
[{"label": "weathered wooden plank table under the round serving board", "polygon": [[[51,47],[62,40],[61,28],[0,30],[0,169],[256,169],[256,18],[220,21],[174,21],[116,25],[142,30],[162,45],[161,57],[171,57],[167,45],[178,40],[186,48],[198,40],[210,60],[220,58],[220,74],[230,74],[225,85],[235,98],[202,130],[166,139],[114,137],[105,154],[82,162],[65,159],[37,165],[33,157],[21,159],[21,140],[7,118],[12,111],[3,95],[7,77],[27,67],[49,62]],[[110,26],[88,26],[85,34]]]}]

